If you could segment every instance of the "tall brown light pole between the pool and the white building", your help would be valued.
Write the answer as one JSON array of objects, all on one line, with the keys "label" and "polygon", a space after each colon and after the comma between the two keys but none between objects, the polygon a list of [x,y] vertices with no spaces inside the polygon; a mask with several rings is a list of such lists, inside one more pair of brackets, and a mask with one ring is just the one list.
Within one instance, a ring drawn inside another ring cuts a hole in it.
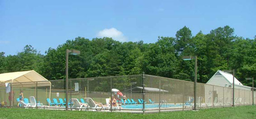
[{"label": "tall brown light pole between the pool and the white building", "polygon": [[194,59],[194,109],[196,110],[196,80],[197,80],[197,56],[182,56],[183,60]]}]

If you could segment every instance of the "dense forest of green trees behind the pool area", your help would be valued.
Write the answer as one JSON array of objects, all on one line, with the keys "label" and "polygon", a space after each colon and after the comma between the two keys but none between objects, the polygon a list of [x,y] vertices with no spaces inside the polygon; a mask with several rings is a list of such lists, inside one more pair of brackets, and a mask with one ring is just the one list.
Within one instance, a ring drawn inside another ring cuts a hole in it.
[{"label": "dense forest of green trees behind the pool area", "polygon": [[256,37],[237,37],[229,26],[218,27],[209,34],[200,31],[195,36],[183,27],[175,37],[158,37],[156,43],[76,37],[56,49],[49,48],[45,55],[27,45],[17,55],[0,52],[0,73],[35,70],[48,80],[64,79],[66,49],[81,51],[81,55],[69,56],[69,78],[145,72],[193,81],[194,61],[183,61],[183,55],[198,56],[198,82],[207,82],[218,69],[236,69],[236,77],[247,86],[251,81],[245,78],[256,75]]}]

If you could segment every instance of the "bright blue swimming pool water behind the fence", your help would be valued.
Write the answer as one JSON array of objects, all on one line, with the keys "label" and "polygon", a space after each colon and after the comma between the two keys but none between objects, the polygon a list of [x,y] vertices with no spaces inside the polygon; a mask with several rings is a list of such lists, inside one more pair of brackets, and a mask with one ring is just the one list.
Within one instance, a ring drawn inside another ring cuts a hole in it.
[{"label": "bright blue swimming pool water behind the fence", "polygon": [[[145,108],[159,108],[159,104],[145,104]],[[161,105],[161,108],[166,108],[166,107],[179,107],[182,105]],[[142,104],[137,104],[137,105],[122,105],[123,109],[142,109]]]}]

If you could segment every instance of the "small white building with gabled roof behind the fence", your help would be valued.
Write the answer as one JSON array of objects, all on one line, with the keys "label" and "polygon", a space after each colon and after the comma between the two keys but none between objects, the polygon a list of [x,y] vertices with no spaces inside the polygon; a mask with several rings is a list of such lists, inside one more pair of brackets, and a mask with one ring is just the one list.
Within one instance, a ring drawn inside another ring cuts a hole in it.
[{"label": "small white building with gabled roof behind the fence", "polygon": [[[232,87],[233,75],[218,70],[212,78],[204,85],[205,103],[214,102],[217,98],[218,103],[223,105],[231,105],[232,103]],[[244,86],[241,82],[234,78],[235,84],[235,105],[251,104],[252,92],[251,87]]]}]

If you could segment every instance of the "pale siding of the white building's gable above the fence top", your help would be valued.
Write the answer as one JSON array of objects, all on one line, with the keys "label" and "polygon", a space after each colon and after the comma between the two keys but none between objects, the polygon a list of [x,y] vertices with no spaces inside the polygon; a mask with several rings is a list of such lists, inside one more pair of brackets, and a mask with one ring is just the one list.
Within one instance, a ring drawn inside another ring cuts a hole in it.
[{"label": "pale siding of the white building's gable above the fence top", "polygon": [[223,76],[213,76],[206,84],[225,87],[226,83],[228,84],[227,87],[231,85]]}]

